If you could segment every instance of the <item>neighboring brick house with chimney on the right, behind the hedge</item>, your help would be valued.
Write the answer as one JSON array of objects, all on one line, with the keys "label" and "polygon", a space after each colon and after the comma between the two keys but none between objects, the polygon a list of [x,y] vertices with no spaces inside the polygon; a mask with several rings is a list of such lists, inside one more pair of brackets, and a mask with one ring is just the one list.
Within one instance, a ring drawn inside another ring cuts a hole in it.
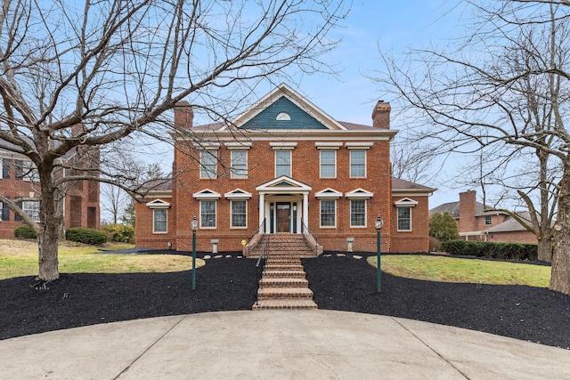
[{"label": "neighboring brick house with chimney on the right, behind the hedge", "polygon": [[[460,237],[471,241],[536,244],[536,235],[503,211],[487,211],[491,207],[476,201],[476,191],[460,192],[459,202],[450,202],[429,210],[429,214],[450,213],[457,221]],[[528,212],[519,213],[529,219]]]}]

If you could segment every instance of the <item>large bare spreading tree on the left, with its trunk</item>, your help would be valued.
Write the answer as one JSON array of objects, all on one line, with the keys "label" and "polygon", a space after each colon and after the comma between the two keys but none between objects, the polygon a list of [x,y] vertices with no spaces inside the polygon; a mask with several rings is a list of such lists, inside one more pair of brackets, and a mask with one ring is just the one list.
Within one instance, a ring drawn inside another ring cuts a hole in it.
[{"label": "large bare spreading tree on the left, with its trunk", "polygon": [[4,0],[0,148],[36,166],[40,222],[0,200],[38,231],[39,279],[59,278],[56,210],[67,184],[136,190],[126,170],[98,165],[106,145],[142,134],[167,139],[167,111],[183,99],[227,117],[264,81],[330,72],[321,57],[335,46],[327,33],[344,17],[343,3]]}]

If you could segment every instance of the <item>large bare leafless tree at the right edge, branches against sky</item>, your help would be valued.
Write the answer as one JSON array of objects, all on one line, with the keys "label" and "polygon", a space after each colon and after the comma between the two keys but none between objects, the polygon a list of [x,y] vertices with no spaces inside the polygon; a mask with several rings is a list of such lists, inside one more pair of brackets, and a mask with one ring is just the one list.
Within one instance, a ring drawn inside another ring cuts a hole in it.
[{"label": "large bare leafless tree at the right edge, branches against sky", "polygon": [[558,231],[550,288],[570,294],[570,6],[468,4],[480,22],[469,26],[460,44],[412,51],[407,66],[385,56],[387,73],[380,80],[424,112],[419,137],[448,141],[447,151],[493,150],[496,168],[521,155],[533,158],[525,176],[517,176],[519,182],[526,178],[517,195],[530,220],[512,215],[536,234],[544,260]]}]

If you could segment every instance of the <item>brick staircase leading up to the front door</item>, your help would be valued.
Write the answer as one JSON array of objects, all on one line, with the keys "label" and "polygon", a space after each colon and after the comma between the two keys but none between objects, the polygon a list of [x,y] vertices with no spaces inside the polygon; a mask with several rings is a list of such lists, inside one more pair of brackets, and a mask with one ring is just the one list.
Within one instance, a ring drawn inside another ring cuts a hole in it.
[{"label": "brick staircase leading up to the front door", "polygon": [[266,235],[264,239],[269,239],[268,249],[252,309],[316,309],[301,264],[301,257],[314,257],[314,251],[301,235]]}]

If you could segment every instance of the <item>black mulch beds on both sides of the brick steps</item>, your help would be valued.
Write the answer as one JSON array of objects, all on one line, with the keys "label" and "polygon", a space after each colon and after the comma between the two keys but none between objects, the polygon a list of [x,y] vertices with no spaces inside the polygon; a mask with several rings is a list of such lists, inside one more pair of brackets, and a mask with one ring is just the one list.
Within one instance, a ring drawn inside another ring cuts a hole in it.
[{"label": "black mulch beds on both sides of the brick steps", "polygon": [[[169,252],[171,253],[171,252]],[[199,254],[200,256],[200,254]],[[356,311],[443,325],[570,349],[570,296],[545,288],[452,284],[382,273],[351,255],[305,259],[320,309]],[[525,263],[521,263],[525,265]],[[0,281],[0,339],[119,320],[250,310],[260,270],[256,260],[209,259],[196,271],[62,274],[46,284],[32,277]]]}]

